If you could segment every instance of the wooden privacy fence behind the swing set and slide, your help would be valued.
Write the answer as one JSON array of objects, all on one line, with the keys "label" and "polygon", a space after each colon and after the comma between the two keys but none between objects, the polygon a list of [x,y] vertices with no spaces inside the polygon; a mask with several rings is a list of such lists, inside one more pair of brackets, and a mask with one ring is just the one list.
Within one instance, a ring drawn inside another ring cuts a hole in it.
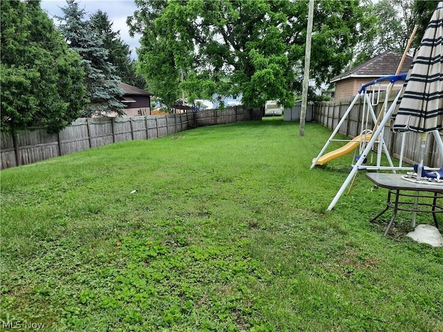
[{"label": "wooden privacy fence behind the swing set and slide", "polygon": [[[392,100],[397,96],[398,91],[392,91],[388,95],[388,107],[392,104]],[[386,97],[386,92],[380,93],[379,103],[373,105],[374,112],[376,116],[382,111],[383,102]],[[377,100],[376,96],[373,98]],[[343,114],[347,111],[348,107],[354,100],[354,97],[343,98],[341,100],[333,100],[330,102],[319,102],[315,105],[314,120],[323,124],[330,130],[334,130],[338,122],[343,117]],[[366,119],[363,118],[363,98],[354,104],[349,116],[338,131],[344,133],[346,136],[354,138],[361,134],[361,124],[365,124]],[[365,108],[367,110],[367,106]],[[419,160],[419,134],[410,133],[394,133],[390,130],[391,121],[388,121],[384,130],[383,139],[386,142],[390,156],[399,158],[401,153],[401,138],[404,135],[404,152],[403,160],[406,163],[413,164]],[[363,126],[365,128],[365,126]],[[368,126],[365,129],[374,129],[374,122],[372,118],[368,120]],[[443,167],[443,156],[438,149],[437,143],[433,135],[428,135],[428,140],[426,142],[426,152],[424,155],[424,165],[429,167]]]}]

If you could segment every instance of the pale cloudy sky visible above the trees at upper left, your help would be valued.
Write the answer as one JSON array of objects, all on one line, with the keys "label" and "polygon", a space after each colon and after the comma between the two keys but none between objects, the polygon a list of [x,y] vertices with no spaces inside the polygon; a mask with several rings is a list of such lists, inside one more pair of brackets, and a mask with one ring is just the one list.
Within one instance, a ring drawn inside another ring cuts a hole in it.
[{"label": "pale cloudy sky visible above the trees at upper left", "polygon": [[[140,47],[138,39],[140,35],[129,37],[129,28],[126,25],[126,18],[132,15],[137,7],[132,0],[78,0],[79,7],[84,8],[86,16],[84,19],[88,19],[89,15],[92,15],[97,10],[106,12],[109,20],[113,22],[112,29],[114,31],[120,30],[120,38],[129,45],[132,51],[132,58],[136,58],[136,48]],[[66,7],[65,0],[42,0],[41,7],[48,13],[48,16],[52,19],[54,16],[62,16],[62,10],[60,8]],[[57,24],[57,23],[56,23]]]}]

